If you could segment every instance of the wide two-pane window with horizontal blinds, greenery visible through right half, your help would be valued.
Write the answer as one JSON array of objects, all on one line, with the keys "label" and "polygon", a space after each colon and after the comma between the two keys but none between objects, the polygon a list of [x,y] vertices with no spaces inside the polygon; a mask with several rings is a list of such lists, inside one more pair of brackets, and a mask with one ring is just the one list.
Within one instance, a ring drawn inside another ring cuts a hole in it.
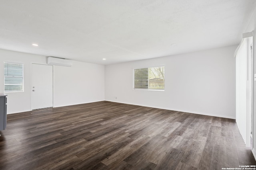
[{"label": "wide two-pane window with horizontal blinds, greenery visible through right half", "polygon": [[134,89],[164,90],[164,66],[134,69]]}]

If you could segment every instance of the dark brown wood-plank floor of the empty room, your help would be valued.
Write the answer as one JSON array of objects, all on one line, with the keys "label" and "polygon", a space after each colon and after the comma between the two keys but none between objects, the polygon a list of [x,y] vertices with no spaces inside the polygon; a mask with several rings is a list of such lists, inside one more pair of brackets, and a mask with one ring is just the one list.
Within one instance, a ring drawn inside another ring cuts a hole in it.
[{"label": "dark brown wood-plank floor of the empty room", "polygon": [[255,165],[233,119],[95,102],[10,114],[1,170],[221,170]]}]

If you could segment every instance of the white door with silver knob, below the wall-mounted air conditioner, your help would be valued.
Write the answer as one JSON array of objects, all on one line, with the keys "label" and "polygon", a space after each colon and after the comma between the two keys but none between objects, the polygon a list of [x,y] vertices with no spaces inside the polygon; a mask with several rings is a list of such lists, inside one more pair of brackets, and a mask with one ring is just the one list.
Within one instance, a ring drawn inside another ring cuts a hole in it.
[{"label": "white door with silver knob, below the wall-mounted air conditioner", "polygon": [[53,106],[53,66],[32,64],[32,109]]}]

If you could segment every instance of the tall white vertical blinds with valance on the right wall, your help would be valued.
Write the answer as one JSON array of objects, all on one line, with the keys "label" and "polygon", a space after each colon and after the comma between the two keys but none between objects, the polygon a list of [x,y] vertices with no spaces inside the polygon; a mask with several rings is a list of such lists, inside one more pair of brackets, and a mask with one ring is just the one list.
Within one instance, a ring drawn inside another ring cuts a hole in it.
[{"label": "tall white vertical blinds with valance on the right wall", "polygon": [[246,147],[251,146],[252,57],[251,37],[242,40],[236,53],[236,123]]}]

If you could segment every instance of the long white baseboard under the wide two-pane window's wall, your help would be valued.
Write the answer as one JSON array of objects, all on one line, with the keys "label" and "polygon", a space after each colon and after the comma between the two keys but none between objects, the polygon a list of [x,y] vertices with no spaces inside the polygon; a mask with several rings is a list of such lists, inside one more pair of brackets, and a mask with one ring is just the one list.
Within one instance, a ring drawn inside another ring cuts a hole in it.
[{"label": "long white baseboard under the wide two-pane window's wall", "polygon": [[127,103],[127,102],[116,102],[114,100],[106,100],[107,102],[115,102],[115,103],[122,103],[122,104],[131,104],[136,106],[144,106],[144,107],[153,107],[156,109],[166,109],[166,110],[172,110],[172,111],[180,111],[180,112],[186,112],[186,113],[193,113],[198,115],[206,115],[206,116],[214,116],[214,117],[223,117],[228,119],[236,119],[236,117],[233,116],[223,116],[223,115],[217,115],[217,114],[211,114],[211,113],[202,113],[202,112],[195,112],[195,111],[189,111],[189,110],[182,110],[182,109],[172,109],[168,107],[157,107],[157,106],[149,106],[149,105],[142,105],[142,104],[134,104],[134,103]]}]

